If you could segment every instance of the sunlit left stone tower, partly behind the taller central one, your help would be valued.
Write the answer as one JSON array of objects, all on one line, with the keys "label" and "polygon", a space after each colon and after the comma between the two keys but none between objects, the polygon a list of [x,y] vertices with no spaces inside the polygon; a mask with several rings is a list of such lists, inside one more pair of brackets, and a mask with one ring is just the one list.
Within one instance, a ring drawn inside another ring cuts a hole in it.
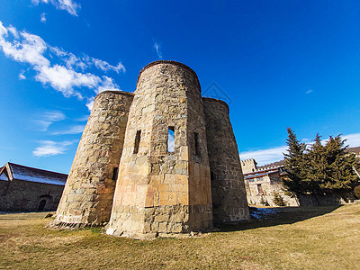
[{"label": "sunlit left stone tower, partly behind the taller central one", "polygon": [[86,227],[110,219],[132,99],[133,94],[121,91],[104,91],[95,97],[54,225]]}]

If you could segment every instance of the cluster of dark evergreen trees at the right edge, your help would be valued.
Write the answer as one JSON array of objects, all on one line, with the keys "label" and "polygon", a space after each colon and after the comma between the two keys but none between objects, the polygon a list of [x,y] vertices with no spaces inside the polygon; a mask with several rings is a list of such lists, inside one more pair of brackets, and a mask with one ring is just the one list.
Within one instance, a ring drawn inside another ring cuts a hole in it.
[{"label": "cluster of dark evergreen trees at the right edge", "polygon": [[317,134],[307,150],[293,130],[289,128],[288,133],[288,154],[284,154],[287,175],[283,179],[288,193],[349,193],[358,184],[354,167],[359,166],[360,160],[354,153],[348,153],[346,140],[340,135],[330,136],[322,145]]}]

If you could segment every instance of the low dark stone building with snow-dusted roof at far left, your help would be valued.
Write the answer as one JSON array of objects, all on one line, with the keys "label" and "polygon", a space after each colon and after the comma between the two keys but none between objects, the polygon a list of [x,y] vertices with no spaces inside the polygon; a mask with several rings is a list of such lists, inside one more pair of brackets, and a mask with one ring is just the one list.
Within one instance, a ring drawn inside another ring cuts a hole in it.
[{"label": "low dark stone building with snow-dusted roof at far left", "polygon": [[55,211],[67,175],[6,163],[0,167],[0,211]]}]

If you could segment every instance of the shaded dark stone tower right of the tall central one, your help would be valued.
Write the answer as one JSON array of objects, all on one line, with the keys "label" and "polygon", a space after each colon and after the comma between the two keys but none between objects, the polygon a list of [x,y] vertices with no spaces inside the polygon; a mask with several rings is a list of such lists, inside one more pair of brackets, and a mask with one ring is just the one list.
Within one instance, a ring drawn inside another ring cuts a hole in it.
[{"label": "shaded dark stone tower right of the tall central one", "polygon": [[214,223],[248,220],[247,195],[238,157],[238,145],[229,120],[229,106],[202,98],[211,168]]}]

